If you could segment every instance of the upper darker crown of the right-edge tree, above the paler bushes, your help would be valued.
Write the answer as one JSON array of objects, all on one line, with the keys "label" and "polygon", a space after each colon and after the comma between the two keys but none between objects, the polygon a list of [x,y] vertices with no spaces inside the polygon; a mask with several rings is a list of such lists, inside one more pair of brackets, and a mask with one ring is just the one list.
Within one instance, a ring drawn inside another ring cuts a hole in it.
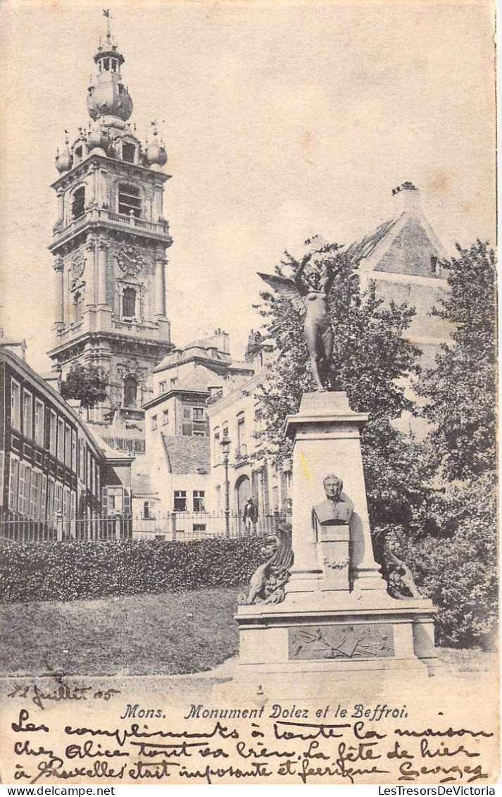
[{"label": "upper darker crown of the right-edge tree, above the paler bushes", "polygon": [[449,294],[434,310],[452,324],[453,344],[442,344],[418,392],[434,426],[434,464],[447,480],[472,481],[496,459],[496,264],[488,243],[457,250],[442,264]]}]

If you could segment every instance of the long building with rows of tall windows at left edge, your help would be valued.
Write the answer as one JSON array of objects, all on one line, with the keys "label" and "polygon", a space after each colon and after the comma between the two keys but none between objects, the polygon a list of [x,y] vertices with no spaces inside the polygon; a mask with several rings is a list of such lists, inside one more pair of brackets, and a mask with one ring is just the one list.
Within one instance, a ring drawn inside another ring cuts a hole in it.
[{"label": "long building with rows of tall windows at left edge", "polygon": [[[1,344],[0,340],[0,344]],[[80,414],[0,345],[0,512],[54,527],[131,510],[131,457],[104,450]]]}]

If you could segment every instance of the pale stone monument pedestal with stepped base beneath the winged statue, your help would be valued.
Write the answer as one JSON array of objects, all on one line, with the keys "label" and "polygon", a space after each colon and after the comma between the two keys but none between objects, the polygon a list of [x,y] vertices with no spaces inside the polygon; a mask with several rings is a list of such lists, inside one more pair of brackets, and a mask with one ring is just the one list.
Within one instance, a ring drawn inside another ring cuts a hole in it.
[{"label": "pale stone monument pedestal with stepped base beneath the winged statue", "polygon": [[[300,412],[287,419],[294,563],[281,603],[238,608],[234,681],[246,692],[262,688],[274,697],[316,697],[332,691],[334,677],[432,675],[441,664],[432,602],[391,598],[375,562],[359,439],[366,420],[350,410],[344,393],[305,394]],[[342,511],[330,521],[324,520],[326,505],[334,502],[328,492],[327,501],[320,501],[332,473],[343,480],[343,493]],[[347,523],[343,509],[349,505]]]}]

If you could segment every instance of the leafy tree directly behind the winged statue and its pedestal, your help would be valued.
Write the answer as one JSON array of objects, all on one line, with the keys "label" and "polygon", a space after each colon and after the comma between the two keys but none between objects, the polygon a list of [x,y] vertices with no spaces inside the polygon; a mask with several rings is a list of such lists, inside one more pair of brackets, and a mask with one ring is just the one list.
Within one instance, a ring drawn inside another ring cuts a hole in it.
[{"label": "leafy tree directly behind the winged statue and its pedestal", "polygon": [[[418,444],[392,426],[403,411],[415,412],[406,383],[418,375],[420,351],[403,337],[414,308],[385,305],[375,289],[361,292],[355,260],[338,245],[320,252],[338,275],[331,287],[330,316],[335,344],[330,369],[331,388],[346,391],[351,408],[368,412],[362,434],[368,508],[375,529],[385,524],[411,524],[423,501]],[[276,274],[288,276],[298,262],[285,253]],[[292,300],[280,292],[263,292],[258,308],[265,318],[276,350],[261,384],[261,414],[268,453],[274,460],[288,457],[284,418],[300,406],[304,391],[312,391],[303,319]]]}]

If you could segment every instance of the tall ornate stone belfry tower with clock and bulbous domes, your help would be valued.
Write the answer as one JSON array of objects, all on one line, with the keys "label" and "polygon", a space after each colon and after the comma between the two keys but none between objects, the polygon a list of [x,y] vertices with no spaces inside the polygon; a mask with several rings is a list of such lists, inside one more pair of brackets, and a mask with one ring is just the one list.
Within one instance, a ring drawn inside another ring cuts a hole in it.
[{"label": "tall ornate stone belfry tower with clock and bulbous domes", "polygon": [[[105,13],[108,17],[108,13]],[[166,150],[153,126],[144,145],[131,128],[132,100],[121,69],[124,56],[108,30],[97,48],[88,88],[88,128],[57,152],[53,183],[59,215],[49,250],[57,278],[55,345],[49,356],[63,379],[75,363],[108,375],[108,401],[95,423],[127,417],[152,395],[151,374],[171,349],[166,316],[163,218]]]}]

